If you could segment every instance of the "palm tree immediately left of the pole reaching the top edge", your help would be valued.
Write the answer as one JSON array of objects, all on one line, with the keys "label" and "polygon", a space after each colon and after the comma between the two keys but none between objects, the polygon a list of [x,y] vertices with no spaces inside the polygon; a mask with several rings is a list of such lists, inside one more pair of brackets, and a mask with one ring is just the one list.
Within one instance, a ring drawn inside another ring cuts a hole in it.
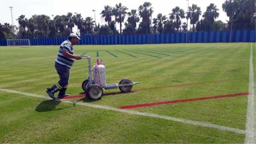
[{"label": "palm tree immediately left of the pole reaching the top edge", "polygon": [[177,32],[179,31],[180,25],[181,25],[181,19],[185,18],[185,13],[180,7],[176,6],[174,9],[172,9],[172,13],[169,14],[170,19],[174,19],[174,27],[177,29]]}]

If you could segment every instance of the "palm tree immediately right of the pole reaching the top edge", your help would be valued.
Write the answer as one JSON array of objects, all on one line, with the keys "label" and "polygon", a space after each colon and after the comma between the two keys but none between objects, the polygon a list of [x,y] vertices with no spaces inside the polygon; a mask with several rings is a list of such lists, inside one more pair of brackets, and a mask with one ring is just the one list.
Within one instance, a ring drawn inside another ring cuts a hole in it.
[{"label": "palm tree immediately right of the pole reaching the top edge", "polygon": [[188,8],[189,11],[187,13],[187,19],[190,19],[190,24],[193,25],[193,32],[195,31],[195,24],[199,20],[199,16],[201,15],[202,11],[201,8],[198,7],[196,4],[192,4],[192,7]]}]

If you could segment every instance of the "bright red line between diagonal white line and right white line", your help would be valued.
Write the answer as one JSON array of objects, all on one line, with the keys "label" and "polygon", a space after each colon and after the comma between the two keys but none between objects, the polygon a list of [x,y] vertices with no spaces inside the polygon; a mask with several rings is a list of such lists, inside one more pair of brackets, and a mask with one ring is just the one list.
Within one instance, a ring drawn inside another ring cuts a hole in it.
[{"label": "bright red line between diagonal white line and right white line", "polygon": [[120,109],[131,109],[131,108],[154,106],[154,105],[161,105],[161,104],[174,104],[174,103],[192,102],[192,101],[216,99],[216,98],[224,98],[224,97],[245,96],[245,95],[248,95],[248,94],[249,93],[236,93],[236,94],[227,94],[227,95],[210,96],[210,97],[198,97],[198,98],[180,99],[180,100],[173,100],[173,101],[166,101],[166,102],[126,105],[126,106],[121,106],[121,107],[118,107],[118,108],[120,108]]}]

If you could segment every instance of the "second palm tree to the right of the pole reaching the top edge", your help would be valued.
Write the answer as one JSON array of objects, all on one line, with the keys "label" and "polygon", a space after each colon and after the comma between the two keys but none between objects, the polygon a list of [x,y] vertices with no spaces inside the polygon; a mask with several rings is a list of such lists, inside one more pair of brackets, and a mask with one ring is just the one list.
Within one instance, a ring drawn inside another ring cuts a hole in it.
[{"label": "second palm tree to the right of the pole reaching the top edge", "polygon": [[214,20],[219,17],[219,13],[217,11],[219,11],[217,6],[211,3],[207,6],[206,11],[203,14],[205,23],[210,27],[212,27]]}]

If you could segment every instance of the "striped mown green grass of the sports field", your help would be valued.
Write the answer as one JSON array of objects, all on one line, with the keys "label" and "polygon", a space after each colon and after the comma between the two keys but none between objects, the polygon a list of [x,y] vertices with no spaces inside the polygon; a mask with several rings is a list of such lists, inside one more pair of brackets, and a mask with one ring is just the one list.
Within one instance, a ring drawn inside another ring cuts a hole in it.
[{"label": "striped mown green grass of the sports field", "polygon": [[[253,62],[255,62],[255,43]],[[106,66],[107,83],[140,82],[134,92],[104,90],[107,107],[248,93],[251,43],[75,46]],[[58,81],[59,46],[0,47],[0,88],[48,96]],[[107,52],[108,51],[108,52]],[[98,53],[98,54],[97,54]],[[97,57],[98,55],[98,57]],[[253,64],[255,66],[255,63]],[[70,69],[68,93],[83,94],[86,60]],[[255,74],[254,74],[255,75]],[[70,99],[71,100],[71,99]],[[128,109],[244,131],[247,96]],[[0,90],[0,143],[244,143],[245,134]]]}]

